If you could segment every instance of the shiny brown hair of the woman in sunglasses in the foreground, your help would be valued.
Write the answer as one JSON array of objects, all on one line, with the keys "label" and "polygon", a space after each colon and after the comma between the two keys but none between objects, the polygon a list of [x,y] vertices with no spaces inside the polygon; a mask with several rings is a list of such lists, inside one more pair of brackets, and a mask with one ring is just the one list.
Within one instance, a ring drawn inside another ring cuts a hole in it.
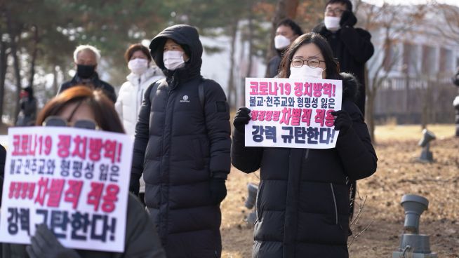
[{"label": "shiny brown hair of the woman in sunglasses in the foreground", "polygon": [[92,90],[88,86],[74,86],[53,97],[41,109],[36,118],[36,125],[41,125],[48,116],[58,116],[64,107],[76,102],[88,104],[93,111],[95,123],[102,130],[124,133],[123,125],[119,120],[117,111],[114,109],[113,102],[109,100],[102,90]]}]

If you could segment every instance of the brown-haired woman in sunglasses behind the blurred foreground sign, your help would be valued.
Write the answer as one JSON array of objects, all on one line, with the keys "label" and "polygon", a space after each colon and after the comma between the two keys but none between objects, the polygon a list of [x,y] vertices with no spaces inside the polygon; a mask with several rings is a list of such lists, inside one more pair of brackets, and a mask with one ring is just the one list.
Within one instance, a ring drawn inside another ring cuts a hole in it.
[{"label": "brown-haired woman in sunglasses behind the blurred foreground sign", "polygon": [[[74,86],[50,100],[41,110],[36,119],[36,125],[46,125],[46,118],[50,116],[58,116],[62,119],[61,123],[64,126],[65,124],[74,126],[76,122],[85,121],[86,124],[92,124],[93,128],[100,128],[100,130],[114,133],[124,133],[123,125],[121,125],[112,102],[101,90],[91,90],[86,86]],[[74,250],[63,247],[48,227],[41,224],[36,228],[35,235],[31,238],[31,245],[26,247],[26,245],[3,243],[1,257],[165,258],[157,230],[150,222],[142,203],[133,194],[128,196],[126,212],[126,242],[123,253]]]}]

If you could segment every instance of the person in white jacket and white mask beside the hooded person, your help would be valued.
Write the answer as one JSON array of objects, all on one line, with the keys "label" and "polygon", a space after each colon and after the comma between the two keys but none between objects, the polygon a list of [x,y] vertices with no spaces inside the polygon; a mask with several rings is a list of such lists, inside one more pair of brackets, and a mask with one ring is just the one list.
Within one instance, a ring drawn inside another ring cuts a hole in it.
[{"label": "person in white jacket and white mask beside the hooded person", "polygon": [[[119,89],[115,109],[117,109],[126,134],[134,138],[135,123],[137,123],[145,90],[155,81],[164,79],[164,74],[156,65],[152,65],[149,49],[140,43],[129,46],[124,54],[124,59],[128,63],[131,74],[126,76],[127,81]],[[145,204],[143,177],[140,177],[139,197],[140,201]]]}]

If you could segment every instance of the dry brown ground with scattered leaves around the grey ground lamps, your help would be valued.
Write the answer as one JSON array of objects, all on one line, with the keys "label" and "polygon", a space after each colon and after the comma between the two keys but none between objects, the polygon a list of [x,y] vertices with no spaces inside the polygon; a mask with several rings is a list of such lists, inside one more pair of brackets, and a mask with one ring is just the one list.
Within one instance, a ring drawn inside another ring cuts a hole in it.
[{"label": "dry brown ground with scattered leaves around the grey ground lamps", "polygon": [[[417,163],[419,126],[377,128],[378,171],[358,182],[359,195],[366,203],[361,219],[352,226],[354,235],[370,226],[350,246],[350,257],[392,257],[403,232],[400,201],[404,194],[430,201],[420,219],[420,233],[430,235],[432,252],[439,257],[459,257],[459,138],[453,137],[453,125],[432,125],[429,130],[437,135],[431,144],[435,161]],[[251,257],[253,227],[244,222],[250,212],[244,206],[248,182],[258,182],[258,177],[232,168],[222,203],[222,257]]]}]

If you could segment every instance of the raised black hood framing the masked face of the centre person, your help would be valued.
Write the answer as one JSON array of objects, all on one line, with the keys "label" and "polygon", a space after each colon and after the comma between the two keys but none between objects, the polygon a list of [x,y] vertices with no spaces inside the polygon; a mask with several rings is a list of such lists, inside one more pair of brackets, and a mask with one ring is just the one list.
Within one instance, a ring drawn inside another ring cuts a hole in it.
[{"label": "raised black hood framing the masked face of the centre person", "polygon": [[[164,67],[163,48],[167,39],[172,39],[181,46],[187,46],[189,49],[189,60],[185,62],[185,67],[170,71]],[[201,74],[202,64],[202,44],[199,40],[199,33],[196,28],[189,25],[173,25],[167,27],[152,39],[149,44],[150,53],[154,62],[164,72],[168,79],[176,77],[177,79],[186,80]]]}]

